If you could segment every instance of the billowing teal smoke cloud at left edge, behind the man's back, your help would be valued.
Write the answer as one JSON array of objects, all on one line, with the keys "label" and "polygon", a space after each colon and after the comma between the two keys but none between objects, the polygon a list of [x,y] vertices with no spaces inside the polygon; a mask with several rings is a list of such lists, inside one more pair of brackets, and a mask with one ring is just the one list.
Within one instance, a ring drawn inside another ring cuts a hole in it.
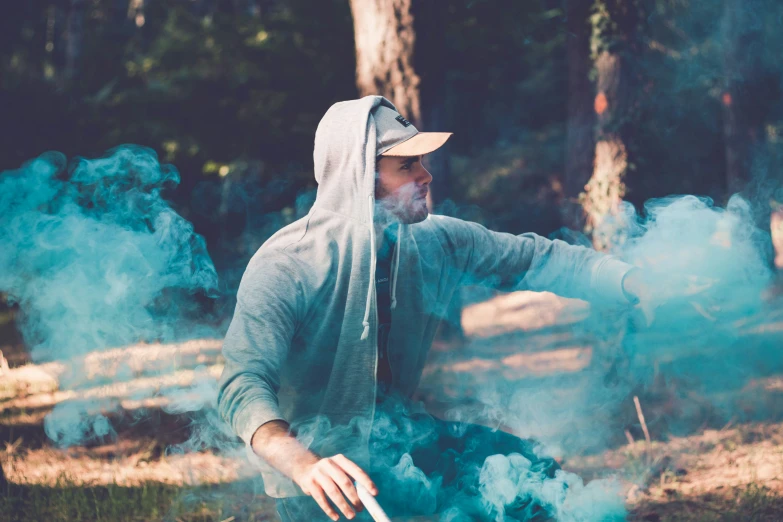
[{"label": "billowing teal smoke cloud at left edge, behind the man's back", "polygon": [[[132,145],[70,162],[50,152],[2,173],[0,292],[20,305],[33,361],[66,361],[78,383],[88,352],[215,335],[195,320],[217,274],[203,238],[162,196],[179,180],[153,150]],[[101,412],[116,407],[59,404],[45,431],[63,446],[111,437]]]}]

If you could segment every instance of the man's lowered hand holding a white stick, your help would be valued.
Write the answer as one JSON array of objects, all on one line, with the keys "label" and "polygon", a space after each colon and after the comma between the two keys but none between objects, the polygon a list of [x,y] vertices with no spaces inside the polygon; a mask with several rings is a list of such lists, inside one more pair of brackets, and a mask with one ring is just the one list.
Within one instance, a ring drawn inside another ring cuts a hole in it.
[{"label": "man's lowered hand holding a white stick", "polygon": [[348,520],[356,516],[356,511],[364,508],[356,492],[354,480],[364,486],[370,494],[378,494],[378,489],[370,477],[343,455],[325,457],[300,465],[294,470],[292,478],[302,491],[313,497],[332,520],[339,519],[340,515],[329,500],[340,508]]}]

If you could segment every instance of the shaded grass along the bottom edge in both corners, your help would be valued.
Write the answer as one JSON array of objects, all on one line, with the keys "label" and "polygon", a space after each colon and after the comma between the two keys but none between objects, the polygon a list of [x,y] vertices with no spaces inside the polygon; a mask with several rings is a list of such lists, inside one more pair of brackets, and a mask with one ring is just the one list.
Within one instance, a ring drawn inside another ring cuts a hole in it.
[{"label": "shaded grass along the bottom edge in both corners", "polygon": [[[182,488],[10,485],[0,495],[0,521],[261,522],[276,520],[269,501],[220,487]],[[733,496],[706,494],[639,506],[628,520],[644,522],[779,522],[783,498],[758,484]]]}]

